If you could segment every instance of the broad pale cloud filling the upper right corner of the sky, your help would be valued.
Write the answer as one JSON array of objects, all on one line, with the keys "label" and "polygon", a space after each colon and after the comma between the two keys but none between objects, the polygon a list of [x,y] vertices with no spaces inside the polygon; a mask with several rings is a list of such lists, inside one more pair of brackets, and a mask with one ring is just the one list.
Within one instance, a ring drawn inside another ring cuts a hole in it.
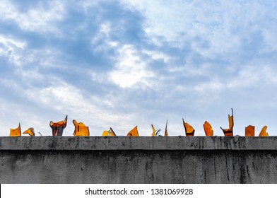
[{"label": "broad pale cloud filling the upper right corner of the sky", "polygon": [[[175,47],[191,47],[204,57],[230,57],[252,33],[261,32],[264,50],[276,49],[276,2],[271,9],[259,1],[122,1],[126,8],[140,11],[149,40],[159,38]],[[266,23],[264,22],[266,21]],[[275,21],[275,22],[273,22]]]}]

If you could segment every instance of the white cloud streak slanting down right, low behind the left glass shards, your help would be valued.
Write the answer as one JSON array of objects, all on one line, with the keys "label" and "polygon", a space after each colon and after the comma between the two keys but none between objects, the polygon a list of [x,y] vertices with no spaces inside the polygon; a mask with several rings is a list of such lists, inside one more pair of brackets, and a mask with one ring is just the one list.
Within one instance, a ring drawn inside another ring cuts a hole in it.
[{"label": "white cloud streak slanting down right, low behind the left glass shards", "polygon": [[[82,93],[78,87],[57,79],[52,86],[47,88],[32,88],[26,91],[25,96],[33,103],[43,106],[50,111],[69,115],[71,119],[84,122],[90,127],[92,135],[101,135],[102,130],[117,126],[117,129],[124,128],[124,122],[130,122],[131,113],[124,115],[120,112],[113,112],[114,101],[112,97],[102,95],[100,98],[88,93]],[[109,110],[110,107],[110,110]],[[54,119],[59,119],[55,116]],[[116,123],[116,124],[115,124]],[[69,124],[68,131],[73,132],[73,125]],[[120,133],[119,133],[120,134]]]}]

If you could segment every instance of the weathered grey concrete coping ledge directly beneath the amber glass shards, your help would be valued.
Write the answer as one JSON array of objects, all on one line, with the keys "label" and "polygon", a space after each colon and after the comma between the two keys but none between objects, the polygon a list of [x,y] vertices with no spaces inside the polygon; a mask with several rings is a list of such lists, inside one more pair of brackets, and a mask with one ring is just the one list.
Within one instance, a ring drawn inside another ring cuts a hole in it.
[{"label": "weathered grey concrete coping ledge directly beneath the amber glass shards", "polygon": [[0,150],[277,150],[277,136],[1,136]]}]

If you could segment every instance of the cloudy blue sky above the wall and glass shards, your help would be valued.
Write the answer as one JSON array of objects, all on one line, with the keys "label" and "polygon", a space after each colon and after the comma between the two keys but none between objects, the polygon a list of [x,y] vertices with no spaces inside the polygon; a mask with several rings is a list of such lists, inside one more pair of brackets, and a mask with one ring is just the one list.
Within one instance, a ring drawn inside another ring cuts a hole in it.
[{"label": "cloudy blue sky above the wall and glass shards", "polygon": [[0,136],[151,124],[277,135],[277,1],[0,1]]}]

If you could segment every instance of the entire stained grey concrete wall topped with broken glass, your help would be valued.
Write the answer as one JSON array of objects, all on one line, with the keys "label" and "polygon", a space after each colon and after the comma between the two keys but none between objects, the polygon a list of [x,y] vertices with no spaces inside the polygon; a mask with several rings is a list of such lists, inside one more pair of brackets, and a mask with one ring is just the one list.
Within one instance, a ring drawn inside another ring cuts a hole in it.
[{"label": "entire stained grey concrete wall topped with broken glass", "polygon": [[277,183],[277,137],[0,137],[0,183]]}]

